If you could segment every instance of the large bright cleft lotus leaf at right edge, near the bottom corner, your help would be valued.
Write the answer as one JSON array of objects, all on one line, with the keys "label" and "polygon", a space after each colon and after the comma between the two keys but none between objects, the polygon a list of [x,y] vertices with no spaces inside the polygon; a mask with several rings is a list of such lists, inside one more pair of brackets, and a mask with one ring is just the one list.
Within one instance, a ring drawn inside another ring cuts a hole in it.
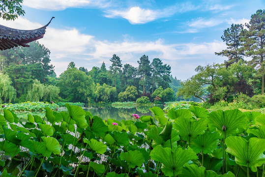
[{"label": "large bright cleft lotus leaf at right edge, near the bottom corner", "polygon": [[230,136],[226,138],[226,145],[226,151],[235,155],[236,163],[245,167],[249,164],[253,172],[265,163],[265,139],[250,138],[246,141],[242,137]]}]

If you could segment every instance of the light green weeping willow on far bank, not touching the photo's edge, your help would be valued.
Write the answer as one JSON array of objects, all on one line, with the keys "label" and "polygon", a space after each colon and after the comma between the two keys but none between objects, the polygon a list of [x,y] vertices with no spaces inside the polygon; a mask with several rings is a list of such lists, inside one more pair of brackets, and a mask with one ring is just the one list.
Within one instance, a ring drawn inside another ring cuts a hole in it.
[{"label": "light green weeping willow on far bank, not touching the photo's edge", "polygon": [[[35,79],[32,84],[32,89],[29,90],[27,99],[29,101],[52,101],[58,97],[60,89],[52,85],[41,84]],[[47,100],[49,99],[49,100]]]}]

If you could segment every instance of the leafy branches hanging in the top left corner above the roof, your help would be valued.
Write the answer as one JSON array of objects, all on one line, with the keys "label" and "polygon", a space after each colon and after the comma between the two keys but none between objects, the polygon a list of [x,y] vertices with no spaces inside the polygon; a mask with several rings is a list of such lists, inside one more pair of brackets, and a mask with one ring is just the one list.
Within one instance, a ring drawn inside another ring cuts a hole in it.
[{"label": "leafy branches hanging in the top left corner above the roof", "polygon": [[0,17],[4,20],[15,20],[24,15],[22,2],[23,0],[0,0]]}]

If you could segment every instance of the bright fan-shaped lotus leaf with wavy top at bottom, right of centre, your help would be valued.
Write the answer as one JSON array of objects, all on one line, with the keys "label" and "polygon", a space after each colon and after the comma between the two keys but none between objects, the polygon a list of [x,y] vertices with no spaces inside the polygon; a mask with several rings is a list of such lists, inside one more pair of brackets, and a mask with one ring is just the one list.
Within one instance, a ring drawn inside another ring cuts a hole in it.
[{"label": "bright fan-shaped lotus leaf with wavy top at bottom, right of centre", "polygon": [[162,148],[157,146],[151,150],[152,160],[162,163],[162,172],[169,177],[175,174],[175,177],[181,174],[182,167],[190,160],[198,159],[196,153],[191,149],[177,148],[172,151],[171,148]]}]

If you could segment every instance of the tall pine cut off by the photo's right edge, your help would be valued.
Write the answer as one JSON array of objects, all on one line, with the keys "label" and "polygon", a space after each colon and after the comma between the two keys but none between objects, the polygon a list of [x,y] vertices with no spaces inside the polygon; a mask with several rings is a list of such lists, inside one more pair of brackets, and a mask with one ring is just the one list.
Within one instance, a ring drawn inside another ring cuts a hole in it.
[{"label": "tall pine cut off by the photo's right edge", "polygon": [[244,37],[244,47],[246,55],[251,56],[250,63],[258,68],[258,72],[262,78],[262,94],[264,94],[265,85],[265,10],[257,10],[251,15],[249,24],[246,24],[248,31]]}]

